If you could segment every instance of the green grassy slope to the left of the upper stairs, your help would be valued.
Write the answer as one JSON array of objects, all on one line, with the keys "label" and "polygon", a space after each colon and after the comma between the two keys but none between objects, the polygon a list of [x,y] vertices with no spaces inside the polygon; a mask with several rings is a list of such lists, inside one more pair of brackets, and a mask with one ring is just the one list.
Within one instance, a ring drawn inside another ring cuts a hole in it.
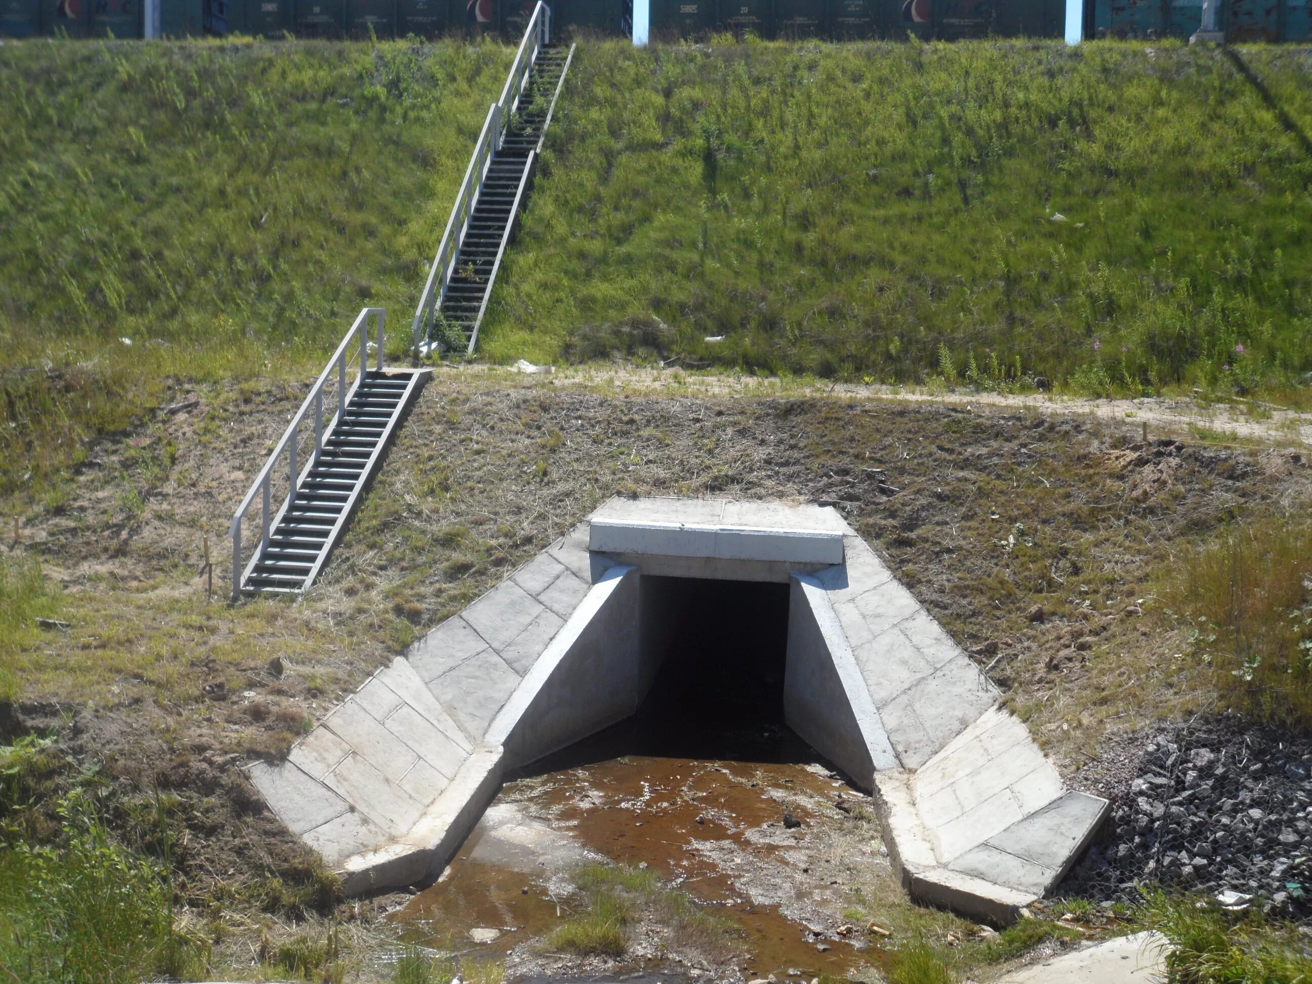
[{"label": "green grassy slope to the left of the upper stairs", "polygon": [[171,375],[312,374],[365,304],[399,340],[509,60],[0,49],[0,492],[39,489]]}]

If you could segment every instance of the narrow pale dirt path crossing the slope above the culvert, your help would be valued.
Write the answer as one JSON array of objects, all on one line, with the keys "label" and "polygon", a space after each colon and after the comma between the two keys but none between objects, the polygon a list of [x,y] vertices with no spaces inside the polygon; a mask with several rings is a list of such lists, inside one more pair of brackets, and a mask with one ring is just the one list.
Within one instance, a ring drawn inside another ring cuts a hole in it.
[{"label": "narrow pale dirt path crossing the slope above the culvert", "polygon": [[[443,365],[447,373],[504,380],[516,378],[516,367]],[[1312,413],[1284,409],[1258,400],[1207,403],[1190,398],[1144,396],[1138,399],[1097,399],[1055,394],[971,392],[932,387],[905,387],[827,380],[782,379],[743,374],[701,374],[681,369],[640,366],[564,366],[550,374],[520,377],[551,386],[621,390],[630,392],[665,391],[687,396],[834,396],[854,401],[930,404],[966,409],[1033,411],[1046,417],[1072,415],[1147,425],[1149,437],[1189,437],[1206,443],[1312,445]]]}]

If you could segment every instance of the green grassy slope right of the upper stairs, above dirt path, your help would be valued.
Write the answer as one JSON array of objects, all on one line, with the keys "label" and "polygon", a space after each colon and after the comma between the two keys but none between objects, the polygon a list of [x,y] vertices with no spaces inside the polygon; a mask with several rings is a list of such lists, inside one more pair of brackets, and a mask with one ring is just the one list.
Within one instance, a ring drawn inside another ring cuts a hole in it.
[{"label": "green grassy slope right of the upper stairs, above dirt path", "polygon": [[[1244,58],[1312,115],[1305,49]],[[1092,394],[1312,369],[1312,157],[1215,51],[588,45],[548,143],[492,358]]]}]

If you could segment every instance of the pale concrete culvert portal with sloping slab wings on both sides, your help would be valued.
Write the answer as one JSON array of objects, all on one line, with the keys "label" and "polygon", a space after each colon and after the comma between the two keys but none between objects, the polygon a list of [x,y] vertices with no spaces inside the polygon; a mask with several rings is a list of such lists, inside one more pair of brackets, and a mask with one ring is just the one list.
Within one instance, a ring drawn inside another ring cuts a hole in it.
[{"label": "pale concrete culvert portal with sloping slab wings on both sides", "polygon": [[670,576],[791,584],[786,720],[874,795],[913,897],[1010,922],[1105,819],[834,509],[722,500],[613,499],[251,779],[349,893],[436,876],[504,770],[634,714]]}]

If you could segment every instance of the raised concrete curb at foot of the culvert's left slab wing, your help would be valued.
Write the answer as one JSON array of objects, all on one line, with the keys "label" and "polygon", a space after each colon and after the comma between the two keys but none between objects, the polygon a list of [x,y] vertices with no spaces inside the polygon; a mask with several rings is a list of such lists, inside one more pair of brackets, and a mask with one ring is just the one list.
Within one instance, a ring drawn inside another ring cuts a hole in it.
[{"label": "raised concrete curb at foot of the culvert's left slab wing", "polygon": [[440,872],[496,796],[501,771],[500,745],[474,749],[404,837],[340,865],[342,891],[363,895],[400,888]]}]

